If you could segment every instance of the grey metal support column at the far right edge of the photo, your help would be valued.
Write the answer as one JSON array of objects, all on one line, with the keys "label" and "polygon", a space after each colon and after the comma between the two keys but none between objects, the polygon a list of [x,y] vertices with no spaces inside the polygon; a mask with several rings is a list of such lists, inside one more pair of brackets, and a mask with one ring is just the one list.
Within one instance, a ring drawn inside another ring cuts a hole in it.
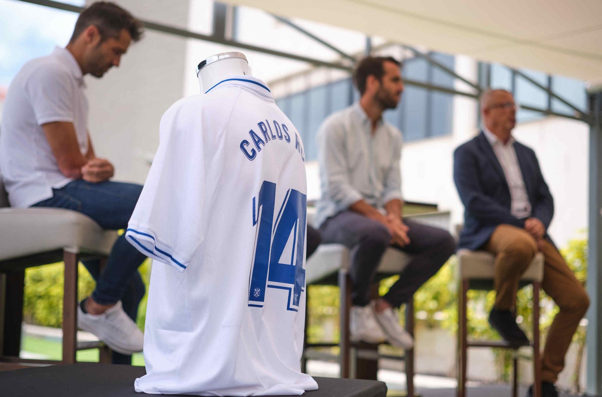
[{"label": "grey metal support column at the far right edge of the photo", "polygon": [[602,86],[588,93],[592,117],[589,130],[589,253],[587,392],[602,395]]}]

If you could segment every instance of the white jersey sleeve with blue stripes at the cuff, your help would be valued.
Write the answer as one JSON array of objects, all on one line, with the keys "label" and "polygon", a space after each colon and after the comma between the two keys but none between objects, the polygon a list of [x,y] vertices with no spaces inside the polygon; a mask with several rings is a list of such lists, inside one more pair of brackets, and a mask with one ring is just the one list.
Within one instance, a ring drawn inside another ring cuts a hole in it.
[{"label": "white jersey sleeve with blue stripes at the cuff", "polygon": [[172,106],[125,237],[149,258],[181,272],[203,241],[205,167],[200,122]]}]

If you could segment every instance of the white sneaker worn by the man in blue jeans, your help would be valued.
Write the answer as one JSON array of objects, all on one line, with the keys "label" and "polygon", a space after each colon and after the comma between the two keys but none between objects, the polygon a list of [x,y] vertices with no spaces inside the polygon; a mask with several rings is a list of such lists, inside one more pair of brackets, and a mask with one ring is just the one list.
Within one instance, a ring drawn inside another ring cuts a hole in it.
[{"label": "white sneaker worn by the man in blue jeans", "polygon": [[95,334],[109,348],[121,354],[133,354],[142,351],[144,334],[123,311],[121,301],[102,314],[89,314],[77,305],[77,326]]}]

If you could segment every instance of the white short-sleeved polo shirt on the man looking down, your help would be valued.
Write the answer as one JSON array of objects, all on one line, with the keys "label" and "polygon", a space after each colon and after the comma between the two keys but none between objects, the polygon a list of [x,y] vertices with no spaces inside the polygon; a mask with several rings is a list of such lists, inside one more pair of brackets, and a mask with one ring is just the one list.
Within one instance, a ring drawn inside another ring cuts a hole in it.
[{"label": "white short-sleeved polo shirt on the man looking down", "polygon": [[52,197],[73,179],[58,169],[42,124],[72,122],[82,154],[88,151],[88,103],[75,58],[65,48],[29,61],[14,77],[0,121],[0,173],[13,207]]}]

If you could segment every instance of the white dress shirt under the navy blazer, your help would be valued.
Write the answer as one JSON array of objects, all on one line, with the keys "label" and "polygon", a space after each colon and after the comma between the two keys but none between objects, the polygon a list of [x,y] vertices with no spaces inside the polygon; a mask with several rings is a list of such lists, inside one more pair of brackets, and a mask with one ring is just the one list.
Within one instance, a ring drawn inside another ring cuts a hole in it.
[{"label": "white dress shirt under the navy blazer", "polygon": [[510,213],[519,219],[529,218],[531,216],[531,203],[525,188],[523,173],[518,164],[517,152],[514,150],[514,137],[510,136],[510,139],[504,145],[486,127],[483,127],[483,133],[485,133],[485,137],[491,144],[502,170],[504,170],[504,176],[506,176],[506,182],[510,189]]}]

